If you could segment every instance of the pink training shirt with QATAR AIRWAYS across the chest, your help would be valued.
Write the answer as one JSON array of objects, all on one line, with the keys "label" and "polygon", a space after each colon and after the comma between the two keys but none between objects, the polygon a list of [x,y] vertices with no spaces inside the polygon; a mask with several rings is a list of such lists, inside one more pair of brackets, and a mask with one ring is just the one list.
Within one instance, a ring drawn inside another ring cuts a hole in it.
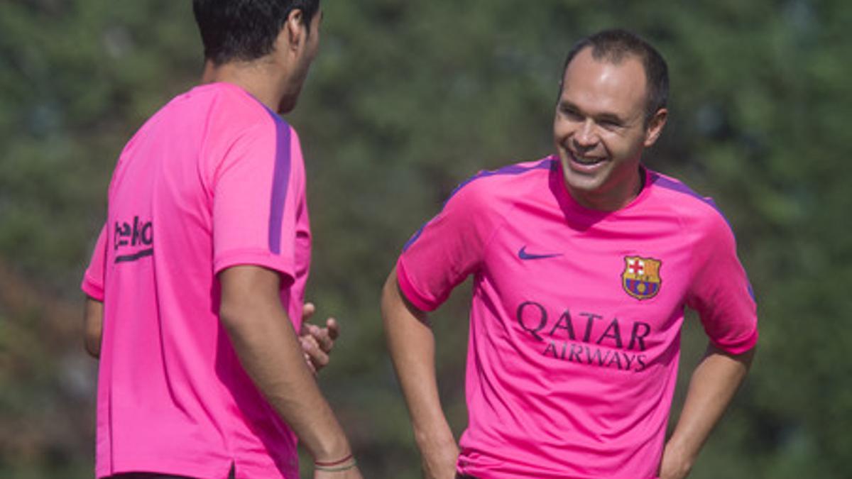
[{"label": "pink training shirt with QATAR AIRWAYS across the chest", "polygon": [[419,309],[474,277],[458,470],[491,478],[656,476],[685,306],[718,347],[757,341],[734,235],[710,199],[644,170],[619,211],[567,193],[558,160],[463,183],[406,245]]}]

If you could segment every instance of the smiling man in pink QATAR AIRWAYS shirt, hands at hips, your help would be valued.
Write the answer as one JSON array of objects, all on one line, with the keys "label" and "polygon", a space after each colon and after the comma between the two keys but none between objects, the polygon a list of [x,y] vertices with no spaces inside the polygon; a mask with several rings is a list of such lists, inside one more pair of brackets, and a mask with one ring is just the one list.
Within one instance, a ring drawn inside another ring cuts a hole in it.
[{"label": "smiling man in pink QATAR AIRWAYS shirt, hands at hips", "polygon": [[[566,61],[556,154],[472,177],[405,245],[382,309],[425,476],[688,475],[746,375],[757,314],[711,199],[641,164],[667,75],[629,32],[585,38]],[[469,276],[457,445],[426,312]],[[685,307],[709,344],[666,442]]]}]

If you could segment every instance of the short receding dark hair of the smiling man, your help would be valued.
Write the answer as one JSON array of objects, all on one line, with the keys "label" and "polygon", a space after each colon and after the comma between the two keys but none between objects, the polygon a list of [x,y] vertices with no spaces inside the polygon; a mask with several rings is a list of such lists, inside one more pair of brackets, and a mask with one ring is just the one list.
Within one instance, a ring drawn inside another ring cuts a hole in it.
[{"label": "short receding dark hair of the smiling man", "polygon": [[563,78],[568,64],[586,47],[591,48],[591,55],[595,60],[618,64],[629,57],[636,57],[642,62],[648,84],[648,98],[645,101],[646,125],[660,108],[665,108],[669,99],[669,67],[665,64],[663,55],[659,55],[650,43],[626,30],[597,32],[574,43],[568,51],[565,66],[562,68]]}]

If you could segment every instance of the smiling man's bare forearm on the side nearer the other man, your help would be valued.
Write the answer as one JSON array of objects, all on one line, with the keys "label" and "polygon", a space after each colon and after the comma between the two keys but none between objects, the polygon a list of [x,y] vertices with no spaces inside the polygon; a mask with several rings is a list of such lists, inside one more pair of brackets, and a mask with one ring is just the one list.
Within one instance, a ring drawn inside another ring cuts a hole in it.
[{"label": "smiling man's bare forearm on the side nearer the other man", "polygon": [[[426,316],[401,296],[391,273],[382,295],[382,317],[391,360],[412,418],[424,468],[454,470],[458,446],[440,406],[435,378],[435,338]],[[440,463],[430,465],[429,463]],[[440,475],[443,476],[443,475]]]}]

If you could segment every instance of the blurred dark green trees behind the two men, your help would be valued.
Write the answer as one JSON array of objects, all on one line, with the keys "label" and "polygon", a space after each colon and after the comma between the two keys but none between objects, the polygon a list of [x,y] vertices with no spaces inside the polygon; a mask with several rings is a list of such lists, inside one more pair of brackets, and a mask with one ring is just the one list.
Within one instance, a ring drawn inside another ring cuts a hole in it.
[{"label": "blurred dark green trees behind the two men", "polygon": [[[477,170],[550,154],[564,55],[612,26],[650,39],[671,68],[669,124],[646,163],[717,200],[757,291],[757,360],[692,477],[852,477],[852,3],[325,0],[324,10],[320,55],[287,119],[308,163],[309,297],[343,323],[320,382],[366,477],[419,476],[378,314],[401,245]],[[121,147],[201,66],[186,1],[0,3],[2,477],[92,476],[96,364],[83,354],[78,283]],[[434,321],[457,435],[465,295]],[[676,400],[704,349],[696,322]]]}]

